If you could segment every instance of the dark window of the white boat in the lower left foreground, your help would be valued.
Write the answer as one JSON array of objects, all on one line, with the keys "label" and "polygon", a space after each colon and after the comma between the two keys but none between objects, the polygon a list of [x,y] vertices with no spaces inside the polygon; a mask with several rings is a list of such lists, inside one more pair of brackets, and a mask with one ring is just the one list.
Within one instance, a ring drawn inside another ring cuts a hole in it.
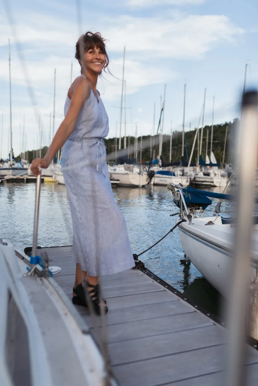
[{"label": "dark window of the white boat in the lower left foreground", "polygon": [[6,363],[14,386],[31,386],[27,326],[9,291],[6,334]]}]

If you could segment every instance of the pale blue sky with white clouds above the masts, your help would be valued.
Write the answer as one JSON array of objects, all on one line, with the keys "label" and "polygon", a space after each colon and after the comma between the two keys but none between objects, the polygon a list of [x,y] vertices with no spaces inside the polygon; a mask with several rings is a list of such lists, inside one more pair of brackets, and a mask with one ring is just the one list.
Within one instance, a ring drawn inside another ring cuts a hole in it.
[{"label": "pale blue sky with white clouds above the masts", "polygon": [[[7,5],[7,8],[6,8]],[[78,17],[79,14],[79,17]],[[185,129],[197,127],[206,91],[204,124],[239,117],[239,102],[247,67],[246,87],[258,85],[257,0],[2,0],[0,7],[0,157],[9,153],[11,52],[12,141],[15,155],[42,146],[63,120],[71,81],[80,74],[75,43],[91,30],[107,39],[109,69],[97,89],[109,117],[108,137],[119,136],[123,49],[126,109],[121,135],[153,132],[166,99],[163,132],[182,130],[186,84]],[[18,51],[17,51],[18,47]],[[19,53],[19,55],[18,55]],[[22,61],[20,60],[22,58]],[[54,71],[56,68],[53,128]],[[31,88],[27,88],[29,82]],[[125,118],[126,113],[126,118]],[[2,126],[3,118],[3,126]],[[171,126],[172,121],[172,126]],[[2,130],[3,127],[3,130]]]}]

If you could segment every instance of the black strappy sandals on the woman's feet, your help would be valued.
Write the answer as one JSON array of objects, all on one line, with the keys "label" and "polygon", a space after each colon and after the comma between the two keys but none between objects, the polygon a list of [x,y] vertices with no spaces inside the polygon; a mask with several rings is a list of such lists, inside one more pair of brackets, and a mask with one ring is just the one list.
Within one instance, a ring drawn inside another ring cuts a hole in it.
[{"label": "black strappy sandals on the woman's feet", "polygon": [[[89,284],[85,279],[83,280],[83,283],[84,285],[82,285],[81,283],[81,284],[78,284],[76,288],[73,288],[73,292],[77,295],[77,296],[73,296],[72,298],[73,304],[88,307],[85,291],[89,291],[89,297],[90,297],[93,309],[97,315],[100,315],[101,306],[99,304],[99,297],[100,297],[99,295],[101,295],[101,292],[100,292],[99,284],[94,286],[92,284]],[[90,290],[88,290],[89,287],[91,288]],[[104,312],[105,314],[108,312],[106,300],[104,300]]]}]

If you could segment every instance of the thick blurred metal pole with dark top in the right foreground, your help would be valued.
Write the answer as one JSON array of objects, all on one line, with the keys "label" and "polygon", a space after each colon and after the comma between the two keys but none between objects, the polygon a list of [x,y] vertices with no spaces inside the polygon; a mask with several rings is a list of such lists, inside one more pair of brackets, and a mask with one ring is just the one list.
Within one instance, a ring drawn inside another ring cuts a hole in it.
[{"label": "thick blurred metal pole with dark top in the right foreground", "polygon": [[249,303],[248,286],[251,278],[251,234],[255,208],[254,175],[258,161],[258,93],[244,94],[240,122],[239,156],[237,170],[237,224],[234,235],[234,275],[230,285],[228,328],[227,386],[241,386],[244,382],[246,361],[246,325]]}]

